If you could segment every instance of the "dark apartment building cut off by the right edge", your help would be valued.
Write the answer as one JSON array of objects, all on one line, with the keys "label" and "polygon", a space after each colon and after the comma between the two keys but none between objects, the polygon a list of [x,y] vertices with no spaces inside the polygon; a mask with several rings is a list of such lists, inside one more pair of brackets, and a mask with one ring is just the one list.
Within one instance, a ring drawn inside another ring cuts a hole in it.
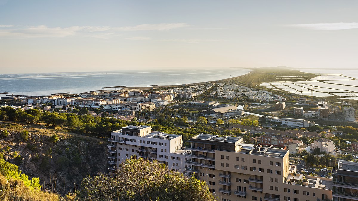
[{"label": "dark apartment building cut off by the right edge", "polygon": [[337,172],[334,173],[334,177],[334,200],[358,200],[358,162],[339,160]]}]

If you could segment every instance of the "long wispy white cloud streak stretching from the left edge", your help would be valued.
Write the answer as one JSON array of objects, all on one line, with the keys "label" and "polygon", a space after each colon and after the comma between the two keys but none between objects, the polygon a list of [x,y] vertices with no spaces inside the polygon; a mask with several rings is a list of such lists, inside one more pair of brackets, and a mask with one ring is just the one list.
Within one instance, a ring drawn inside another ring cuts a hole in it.
[{"label": "long wispy white cloud streak stretching from the left edge", "polygon": [[[142,31],[157,30],[167,31],[189,26],[186,23],[162,23],[162,24],[140,24],[136,26],[110,27],[110,26],[69,26],[69,27],[48,27],[39,26],[21,26],[0,25],[0,37],[9,38],[65,38],[71,36],[89,36],[95,38],[107,39],[114,33],[122,31]],[[3,28],[3,29],[1,29]],[[136,38],[133,37],[133,40]],[[137,40],[147,40],[147,38],[137,38]],[[130,40],[130,39],[129,39]]]}]

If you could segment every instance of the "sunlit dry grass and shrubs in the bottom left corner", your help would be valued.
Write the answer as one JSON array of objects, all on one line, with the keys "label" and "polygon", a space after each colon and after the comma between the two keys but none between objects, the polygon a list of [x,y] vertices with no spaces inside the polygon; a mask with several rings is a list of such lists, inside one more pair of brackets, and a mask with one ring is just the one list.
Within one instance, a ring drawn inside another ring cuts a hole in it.
[{"label": "sunlit dry grass and shrubs in the bottom left corner", "polygon": [[0,174],[1,201],[71,201],[72,197],[60,197],[55,193],[33,190],[24,185],[21,180],[9,181]]}]

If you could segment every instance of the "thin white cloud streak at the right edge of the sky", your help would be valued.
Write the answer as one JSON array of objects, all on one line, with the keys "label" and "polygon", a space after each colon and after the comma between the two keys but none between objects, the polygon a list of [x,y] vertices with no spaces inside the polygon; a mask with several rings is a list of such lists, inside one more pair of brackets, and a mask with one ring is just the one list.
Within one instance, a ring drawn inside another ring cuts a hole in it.
[{"label": "thin white cloud streak at the right edge of the sky", "polygon": [[317,23],[317,24],[291,24],[289,26],[304,28],[304,29],[313,29],[321,31],[331,31],[331,30],[343,30],[343,29],[358,29],[358,23]]}]

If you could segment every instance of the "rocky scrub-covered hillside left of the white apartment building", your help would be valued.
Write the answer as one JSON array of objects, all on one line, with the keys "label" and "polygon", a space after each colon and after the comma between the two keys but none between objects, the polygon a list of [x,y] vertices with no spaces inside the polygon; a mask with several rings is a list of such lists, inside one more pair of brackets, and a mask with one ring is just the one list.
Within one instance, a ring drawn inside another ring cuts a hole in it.
[{"label": "rocky scrub-covered hillside left of the white apartment building", "polygon": [[5,161],[30,178],[39,177],[43,189],[64,195],[77,190],[87,175],[106,172],[107,147],[101,139],[9,122],[0,122],[0,133]]}]

